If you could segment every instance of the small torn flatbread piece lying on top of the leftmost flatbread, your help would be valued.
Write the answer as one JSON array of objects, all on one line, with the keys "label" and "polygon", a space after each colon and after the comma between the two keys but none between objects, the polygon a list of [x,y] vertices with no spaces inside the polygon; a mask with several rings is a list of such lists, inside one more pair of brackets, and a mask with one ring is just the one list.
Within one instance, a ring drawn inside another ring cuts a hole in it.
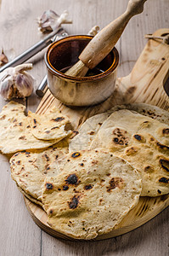
[{"label": "small torn flatbread piece lying on top of the leftmost flatbread", "polygon": [[57,140],[58,142],[70,134],[70,121],[58,108],[44,114],[28,112],[28,121],[32,134],[37,139]]}]

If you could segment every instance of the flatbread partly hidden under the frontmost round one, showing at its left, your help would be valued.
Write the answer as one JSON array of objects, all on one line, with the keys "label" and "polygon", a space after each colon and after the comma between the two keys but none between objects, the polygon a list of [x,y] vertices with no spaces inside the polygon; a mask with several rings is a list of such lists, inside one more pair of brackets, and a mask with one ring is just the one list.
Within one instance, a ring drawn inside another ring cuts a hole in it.
[{"label": "flatbread partly hidden under the frontmost round one, showing at its left", "polygon": [[37,201],[42,201],[42,183],[48,175],[56,175],[58,168],[50,168],[50,163],[55,161],[59,165],[61,158],[68,153],[68,142],[63,140],[53,147],[41,151],[24,151],[14,154],[9,163],[11,177],[17,185]]}]

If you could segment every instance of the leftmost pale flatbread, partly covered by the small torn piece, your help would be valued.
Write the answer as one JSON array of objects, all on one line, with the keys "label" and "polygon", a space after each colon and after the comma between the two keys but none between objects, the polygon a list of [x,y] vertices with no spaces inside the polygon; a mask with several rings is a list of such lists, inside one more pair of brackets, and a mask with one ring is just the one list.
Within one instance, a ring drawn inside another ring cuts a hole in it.
[{"label": "leftmost pale flatbread, partly covered by the small torn piece", "polygon": [[13,154],[25,149],[48,148],[57,140],[38,140],[31,133],[25,116],[25,106],[8,102],[0,113],[0,150],[3,154]]}]

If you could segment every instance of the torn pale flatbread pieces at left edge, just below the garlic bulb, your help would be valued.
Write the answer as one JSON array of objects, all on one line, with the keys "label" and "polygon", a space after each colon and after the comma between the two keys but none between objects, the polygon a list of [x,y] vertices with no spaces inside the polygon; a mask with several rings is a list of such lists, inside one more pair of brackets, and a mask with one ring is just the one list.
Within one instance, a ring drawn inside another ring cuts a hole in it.
[{"label": "torn pale flatbread pieces at left edge, just below the garlic bulb", "polygon": [[28,112],[25,106],[9,102],[0,113],[0,150],[13,154],[25,149],[48,148],[70,135],[70,121],[53,108],[39,115]]}]

